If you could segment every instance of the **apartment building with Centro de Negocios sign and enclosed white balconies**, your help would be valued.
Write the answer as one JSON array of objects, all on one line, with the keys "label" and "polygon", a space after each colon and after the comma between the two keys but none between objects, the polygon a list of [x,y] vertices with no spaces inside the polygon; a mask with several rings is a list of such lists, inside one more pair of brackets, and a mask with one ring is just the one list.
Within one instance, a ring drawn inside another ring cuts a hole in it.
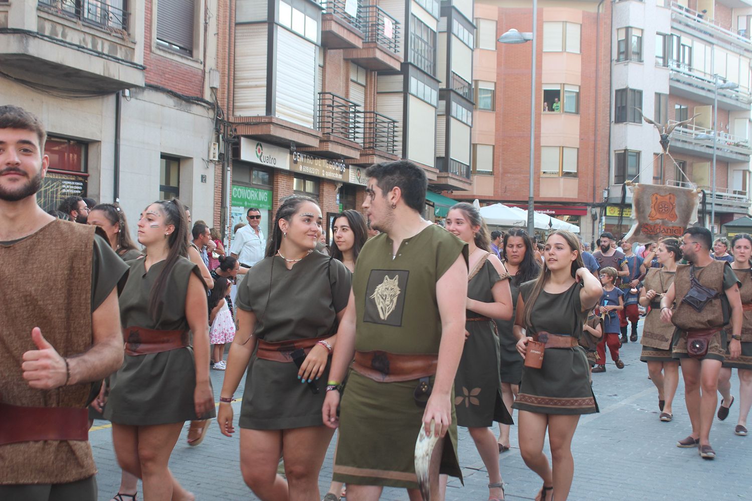
[{"label": "apartment building with Centro de Negocios sign and enclosed white balconies", "polygon": [[250,207],[268,224],[300,193],[328,229],[359,209],[365,168],[380,161],[419,164],[434,199],[470,186],[471,0],[235,0],[219,18],[230,224]]}]

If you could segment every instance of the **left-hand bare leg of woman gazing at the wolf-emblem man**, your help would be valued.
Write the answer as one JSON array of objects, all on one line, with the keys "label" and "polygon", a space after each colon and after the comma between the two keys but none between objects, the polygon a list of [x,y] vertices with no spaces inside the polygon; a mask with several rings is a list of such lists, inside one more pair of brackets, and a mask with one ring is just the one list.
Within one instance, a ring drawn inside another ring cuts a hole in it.
[{"label": "left-hand bare leg of woman gazing at the wolf-emblem man", "polygon": [[262,501],[288,501],[287,481],[277,475],[282,455],[279,430],[240,430],[240,471]]}]

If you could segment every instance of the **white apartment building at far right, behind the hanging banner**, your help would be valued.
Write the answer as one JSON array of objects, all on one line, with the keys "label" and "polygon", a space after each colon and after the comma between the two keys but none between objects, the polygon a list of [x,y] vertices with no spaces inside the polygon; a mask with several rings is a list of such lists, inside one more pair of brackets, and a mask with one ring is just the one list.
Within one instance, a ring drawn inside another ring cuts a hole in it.
[{"label": "white apartment building at far right, behind the hanging banner", "polygon": [[[623,197],[622,184],[635,180],[699,187],[705,192],[702,223],[710,227],[714,206],[719,232],[724,223],[750,213],[752,2],[622,0],[614,3],[613,14],[605,228],[626,231],[631,196]],[[696,117],[675,128],[671,158],[661,158],[658,133],[640,111],[662,124]]]}]

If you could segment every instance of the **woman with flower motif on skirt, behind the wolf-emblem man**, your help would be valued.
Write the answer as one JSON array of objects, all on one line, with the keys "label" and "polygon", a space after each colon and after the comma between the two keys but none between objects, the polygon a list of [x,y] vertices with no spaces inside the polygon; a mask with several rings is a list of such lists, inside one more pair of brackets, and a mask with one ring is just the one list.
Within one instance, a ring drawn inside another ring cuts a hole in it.
[{"label": "woman with flower motif on skirt, behind the wolf-emblem man", "polygon": [[454,378],[457,426],[468,428],[475,448],[488,471],[489,501],[504,499],[499,471],[499,448],[490,426],[494,421],[511,424],[502,400],[499,337],[493,318],[508,320],[512,314],[509,273],[490,252],[488,229],[480,211],[466,202],[447,213],[446,228],[468,243],[468,297],[465,314],[465,348]]}]

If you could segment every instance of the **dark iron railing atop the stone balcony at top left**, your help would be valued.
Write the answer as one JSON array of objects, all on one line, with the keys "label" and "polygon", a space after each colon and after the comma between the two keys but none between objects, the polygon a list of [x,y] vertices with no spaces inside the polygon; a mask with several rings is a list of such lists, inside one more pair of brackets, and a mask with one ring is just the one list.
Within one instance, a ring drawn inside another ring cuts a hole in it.
[{"label": "dark iron railing atop the stone balcony at top left", "polygon": [[128,31],[128,0],[38,0],[38,6],[83,23]]}]

